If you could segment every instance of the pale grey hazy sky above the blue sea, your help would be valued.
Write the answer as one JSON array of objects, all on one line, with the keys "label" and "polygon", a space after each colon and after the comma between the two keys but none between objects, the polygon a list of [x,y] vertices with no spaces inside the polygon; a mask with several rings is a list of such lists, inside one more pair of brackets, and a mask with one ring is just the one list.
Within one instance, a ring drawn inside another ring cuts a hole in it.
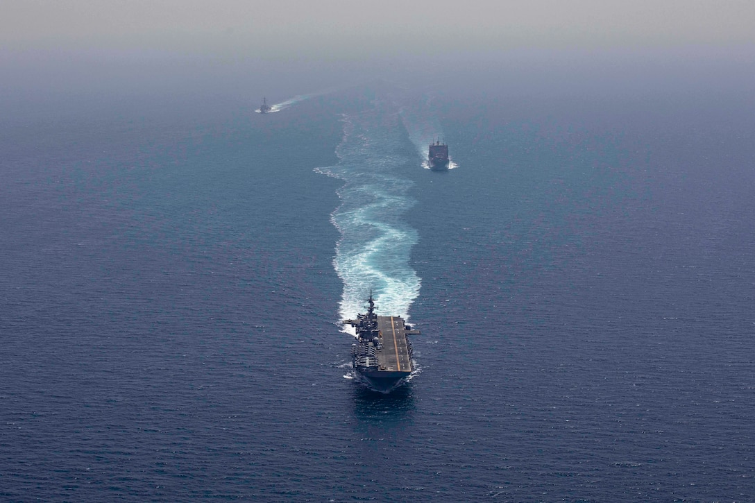
[{"label": "pale grey hazy sky above the blue sea", "polygon": [[362,57],[755,44],[755,0],[0,0],[6,50]]}]

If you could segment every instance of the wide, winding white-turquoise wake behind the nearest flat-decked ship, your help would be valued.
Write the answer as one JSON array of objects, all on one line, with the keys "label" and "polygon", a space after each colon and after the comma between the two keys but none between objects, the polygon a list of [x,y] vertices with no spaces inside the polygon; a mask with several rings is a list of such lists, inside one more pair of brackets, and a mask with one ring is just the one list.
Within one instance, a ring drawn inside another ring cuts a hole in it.
[{"label": "wide, winding white-turquoise wake behind the nearest flat-decked ship", "polygon": [[381,106],[344,116],[337,165],[316,171],[344,181],[331,221],[341,232],[333,264],[344,282],[341,319],[365,311],[372,290],[378,314],[408,317],[421,280],[409,265],[417,231],[402,220],[414,205],[401,176],[402,128],[396,110]]}]

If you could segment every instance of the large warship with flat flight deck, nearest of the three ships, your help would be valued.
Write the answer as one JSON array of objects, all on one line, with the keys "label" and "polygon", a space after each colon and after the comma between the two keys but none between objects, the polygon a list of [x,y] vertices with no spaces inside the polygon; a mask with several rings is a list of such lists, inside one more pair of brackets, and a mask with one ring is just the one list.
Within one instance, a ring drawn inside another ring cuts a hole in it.
[{"label": "large warship with flat flight deck, nearest of the three ships", "polygon": [[414,370],[407,335],[420,331],[412,330],[400,316],[377,316],[372,292],[367,302],[366,314],[344,319],[344,325],[356,327],[353,366],[368,387],[388,393],[403,384]]}]

